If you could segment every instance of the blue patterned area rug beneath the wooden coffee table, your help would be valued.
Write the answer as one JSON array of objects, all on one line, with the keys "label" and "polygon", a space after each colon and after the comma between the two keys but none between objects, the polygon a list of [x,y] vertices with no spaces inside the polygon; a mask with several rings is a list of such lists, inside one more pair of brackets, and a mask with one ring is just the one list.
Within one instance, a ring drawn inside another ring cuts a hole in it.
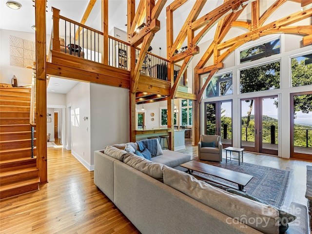
[{"label": "blue patterned area rug beneath the wooden coffee table", "polygon": [[[245,173],[254,176],[252,180],[244,187],[246,189],[246,193],[249,195],[253,195],[254,197],[267,202],[270,205],[275,207],[282,207],[285,193],[287,190],[287,185],[289,181],[290,171],[276,169],[272,167],[265,167],[260,165],[255,165],[251,163],[241,163],[238,165],[237,161],[230,161],[228,163],[225,162],[225,159],[222,162],[212,162],[212,161],[202,161],[203,163],[207,163],[213,166],[225,168],[231,171]],[[200,173],[194,172],[194,174],[198,175]],[[231,183],[229,181],[217,178],[215,176],[207,176],[212,177],[215,180],[231,184],[237,187],[237,184]]]}]

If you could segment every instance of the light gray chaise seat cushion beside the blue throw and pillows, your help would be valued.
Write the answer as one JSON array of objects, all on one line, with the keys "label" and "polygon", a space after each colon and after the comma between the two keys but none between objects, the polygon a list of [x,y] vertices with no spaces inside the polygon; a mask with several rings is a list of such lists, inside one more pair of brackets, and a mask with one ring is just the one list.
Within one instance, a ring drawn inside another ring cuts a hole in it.
[{"label": "light gray chaise seat cushion beside the blue throw and pillows", "polygon": [[163,155],[152,157],[151,161],[165,164],[168,167],[176,167],[191,160],[191,156],[171,150],[163,150]]}]

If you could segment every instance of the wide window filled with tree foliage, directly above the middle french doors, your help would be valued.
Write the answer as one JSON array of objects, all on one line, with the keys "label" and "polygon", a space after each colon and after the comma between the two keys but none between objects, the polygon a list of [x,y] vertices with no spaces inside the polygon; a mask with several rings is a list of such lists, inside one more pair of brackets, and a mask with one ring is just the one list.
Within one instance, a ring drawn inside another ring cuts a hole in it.
[{"label": "wide window filled with tree foliage, directly above the middle french doors", "polygon": [[280,61],[240,71],[240,93],[279,89]]}]

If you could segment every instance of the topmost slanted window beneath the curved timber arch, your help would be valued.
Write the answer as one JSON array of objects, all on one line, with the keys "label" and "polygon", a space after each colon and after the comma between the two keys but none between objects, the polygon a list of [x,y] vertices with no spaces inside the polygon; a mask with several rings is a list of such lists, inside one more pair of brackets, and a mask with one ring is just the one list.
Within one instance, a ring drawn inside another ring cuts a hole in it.
[{"label": "topmost slanted window beneath the curved timber arch", "polygon": [[240,51],[240,63],[266,58],[279,53],[280,39],[275,39]]}]

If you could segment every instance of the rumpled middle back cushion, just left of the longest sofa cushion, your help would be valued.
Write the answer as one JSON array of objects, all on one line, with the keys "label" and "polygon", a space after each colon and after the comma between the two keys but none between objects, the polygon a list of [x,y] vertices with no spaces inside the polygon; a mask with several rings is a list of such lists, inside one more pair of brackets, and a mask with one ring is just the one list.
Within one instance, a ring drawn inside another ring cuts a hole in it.
[{"label": "rumpled middle back cushion, just left of the longest sofa cushion", "polygon": [[124,163],[137,169],[144,174],[151,176],[157,180],[162,181],[162,168],[164,165],[147,160],[140,156],[125,156]]}]

